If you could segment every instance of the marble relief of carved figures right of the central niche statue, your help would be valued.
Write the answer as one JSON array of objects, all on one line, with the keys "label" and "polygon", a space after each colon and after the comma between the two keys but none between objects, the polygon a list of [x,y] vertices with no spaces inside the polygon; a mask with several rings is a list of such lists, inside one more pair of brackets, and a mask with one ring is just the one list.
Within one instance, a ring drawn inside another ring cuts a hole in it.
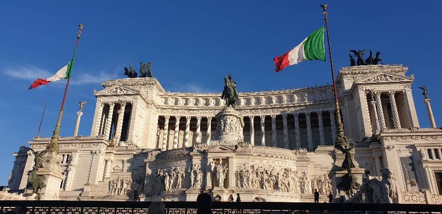
[{"label": "marble relief of carved figures right of the central niche statue", "polygon": [[331,181],[326,174],[308,175],[292,168],[255,166],[243,164],[236,167],[236,187],[275,190],[288,193],[312,194],[318,189],[321,195],[330,193]]}]

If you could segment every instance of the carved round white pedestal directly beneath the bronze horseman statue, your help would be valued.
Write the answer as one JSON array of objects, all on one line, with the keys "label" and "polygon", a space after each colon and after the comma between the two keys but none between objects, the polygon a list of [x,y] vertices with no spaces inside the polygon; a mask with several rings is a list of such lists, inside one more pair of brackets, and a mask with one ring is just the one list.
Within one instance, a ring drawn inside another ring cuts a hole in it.
[{"label": "carved round white pedestal directly beneath the bronze horseman statue", "polygon": [[215,140],[238,141],[243,140],[242,128],[244,122],[242,116],[232,107],[224,107],[216,114],[217,126]]}]

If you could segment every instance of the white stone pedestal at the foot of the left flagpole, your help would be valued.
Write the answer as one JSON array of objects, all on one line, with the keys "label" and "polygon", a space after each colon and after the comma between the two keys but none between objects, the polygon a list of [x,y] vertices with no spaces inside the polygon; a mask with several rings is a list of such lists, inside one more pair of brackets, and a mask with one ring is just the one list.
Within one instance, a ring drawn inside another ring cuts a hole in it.
[{"label": "white stone pedestal at the foot of the left flagpole", "polygon": [[40,200],[58,200],[61,181],[65,175],[61,174],[61,157],[56,153],[46,153],[40,157],[42,168],[36,171],[44,179],[46,187],[40,190]]}]

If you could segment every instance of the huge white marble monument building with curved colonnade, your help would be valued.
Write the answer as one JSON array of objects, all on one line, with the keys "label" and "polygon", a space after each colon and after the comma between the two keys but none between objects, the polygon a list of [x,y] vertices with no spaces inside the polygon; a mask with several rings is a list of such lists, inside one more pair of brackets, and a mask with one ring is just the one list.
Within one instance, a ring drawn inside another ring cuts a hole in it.
[{"label": "huge white marble monument building with curved colonnade", "polygon": [[[442,130],[420,128],[414,76],[407,70],[403,65],[341,68],[344,131],[357,145],[355,165],[366,174],[393,169],[405,194],[402,202],[417,203],[430,194],[433,203],[442,203]],[[217,127],[216,115],[225,106],[219,93],[166,92],[155,78],[110,80],[103,86],[94,91],[90,136],[59,139],[65,176],[60,200],[130,200],[135,187],[141,200],[195,200],[205,191],[225,201],[240,193],[242,201],[311,202],[314,189],[321,201],[330,192],[337,197],[329,179],[336,158],[331,85],[240,93],[235,109],[241,122],[225,127]],[[217,129],[232,127],[242,130],[243,140],[215,140]],[[29,145],[41,151],[50,139],[35,137]],[[8,187],[20,191],[34,157],[26,147],[14,156]]]}]

